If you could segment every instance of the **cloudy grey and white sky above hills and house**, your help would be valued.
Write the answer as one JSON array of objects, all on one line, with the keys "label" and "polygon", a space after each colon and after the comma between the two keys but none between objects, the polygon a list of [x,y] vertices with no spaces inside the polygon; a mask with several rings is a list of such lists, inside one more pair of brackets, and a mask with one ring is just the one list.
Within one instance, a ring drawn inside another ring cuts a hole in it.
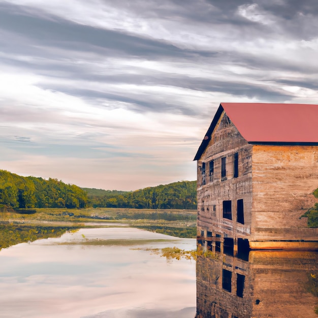
[{"label": "cloudy grey and white sky above hills and house", "polygon": [[316,0],[0,0],[0,169],[196,179],[221,102],[318,98]]}]

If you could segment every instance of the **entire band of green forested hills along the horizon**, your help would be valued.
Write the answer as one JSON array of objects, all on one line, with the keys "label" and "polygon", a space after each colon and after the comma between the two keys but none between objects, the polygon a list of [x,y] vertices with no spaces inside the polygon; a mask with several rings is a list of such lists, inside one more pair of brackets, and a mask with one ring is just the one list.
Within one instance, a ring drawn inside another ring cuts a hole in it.
[{"label": "entire band of green forested hills along the horizon", "polygon": [[179,181],[131,192],[80,188],[57,179],[0,170],[0,207],[196,209],[197,182]]}]

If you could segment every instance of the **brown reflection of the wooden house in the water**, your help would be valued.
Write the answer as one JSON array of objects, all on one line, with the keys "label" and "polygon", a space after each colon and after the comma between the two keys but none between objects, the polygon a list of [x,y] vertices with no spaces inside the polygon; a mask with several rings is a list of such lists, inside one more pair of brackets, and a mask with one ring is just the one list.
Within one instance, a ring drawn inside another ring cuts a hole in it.
[{"label": "brown reflection of the wooden house in the water", "polygon": [[308,292],[313,273],[314,251],[251,251],[249,261],[218,252],[199,256],[196,317],[316,317],[318,299]]}]

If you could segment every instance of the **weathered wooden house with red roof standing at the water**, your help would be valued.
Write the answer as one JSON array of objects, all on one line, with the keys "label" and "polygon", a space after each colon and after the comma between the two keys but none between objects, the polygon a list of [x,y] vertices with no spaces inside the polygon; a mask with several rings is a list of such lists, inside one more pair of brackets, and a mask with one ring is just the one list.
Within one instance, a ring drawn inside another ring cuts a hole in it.
[{"label": "weathered wooden house with red roof standing at the water", "polygon": [[195,160],[206,250],[318,249],[318,105],[221,103]]}]

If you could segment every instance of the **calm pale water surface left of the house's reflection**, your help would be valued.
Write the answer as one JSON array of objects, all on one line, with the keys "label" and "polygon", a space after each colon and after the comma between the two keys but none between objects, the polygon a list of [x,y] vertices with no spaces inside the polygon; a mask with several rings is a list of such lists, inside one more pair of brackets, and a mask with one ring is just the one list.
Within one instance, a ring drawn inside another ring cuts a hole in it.
[{"label": "calm pale water surface left of the house's reflection", "polygon": [[0,317],[194,318],[195,262],[145,248],[195,249],[131,228],[81,229],[0,251]]}]

